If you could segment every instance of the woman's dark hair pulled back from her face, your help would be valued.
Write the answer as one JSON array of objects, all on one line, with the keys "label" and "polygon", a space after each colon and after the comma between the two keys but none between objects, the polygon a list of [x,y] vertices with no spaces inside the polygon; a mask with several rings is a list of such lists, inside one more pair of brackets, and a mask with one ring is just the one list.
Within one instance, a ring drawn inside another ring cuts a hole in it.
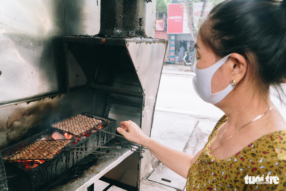
[{"label": "woman's dark hair pulled back from her face", "polygon": [[200,36],[219,58],[243,55],[267,89],[285,83],[286,2],[225,0],[209,13]]}]

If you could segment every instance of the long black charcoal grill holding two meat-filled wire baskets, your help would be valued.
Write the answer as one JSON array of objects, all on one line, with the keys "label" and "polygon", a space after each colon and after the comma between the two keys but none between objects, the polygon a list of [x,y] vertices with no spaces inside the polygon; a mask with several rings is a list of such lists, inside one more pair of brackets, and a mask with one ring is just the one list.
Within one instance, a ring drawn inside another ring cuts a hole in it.
[{"label": "long black charcoal grill holding two meat-filled wire baskets", "polygon": [[[104,131],[115,133],[115,120],[87,112],[64,119],[56,125],[65,124],[64,122],[77,119],[79,116],[82,119],[79,124],[86,124],[84,121],[87,120],[101,122],[97,125],[102,125]],[[100,131],[86,136],[95,123],[90,124],[90,128],[82,133],[82,136],[85,136],[80,142],[75,142],[74,139],[41,140],[53,136],[57,128],[51,127],[5,148],[2,150],[2,155],[7,166],[7,176],[12,176],[10,179],[14,181],[17,180],[18,186],[24,191],[39,191],[43,187],[50,187],[53,181],[84,159],[94,147],[102,146],[113,138],[112,135]],[[82,127],[77,126],[77,128]],[[61,130],[56,132],[63,133]],[[81,148],[78,150],[80,152],[75,152],[74,148]],[[101,154],[104,155],[103,152]]]}]

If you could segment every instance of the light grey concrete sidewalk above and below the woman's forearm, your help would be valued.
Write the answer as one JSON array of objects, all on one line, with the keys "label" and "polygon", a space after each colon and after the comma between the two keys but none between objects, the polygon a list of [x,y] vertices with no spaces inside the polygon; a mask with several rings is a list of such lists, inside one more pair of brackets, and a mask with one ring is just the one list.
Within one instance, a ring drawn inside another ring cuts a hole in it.
[{"label": "light grey concrete sidewalk above and below the woman's forearm", "polygon": [[[173,149],[195,154],[204,147],[216,123],[189,114],[156,110],[151,138]],[[160,163],[150,176],[141,181],[140,187],[141,191],[184,191],[185,183],[185,178]]]}]

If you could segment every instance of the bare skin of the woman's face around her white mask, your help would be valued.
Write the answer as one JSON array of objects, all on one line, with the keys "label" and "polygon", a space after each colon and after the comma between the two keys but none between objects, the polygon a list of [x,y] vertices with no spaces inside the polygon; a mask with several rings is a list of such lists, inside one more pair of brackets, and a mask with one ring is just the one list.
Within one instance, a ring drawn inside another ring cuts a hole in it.
[{"label": "bare skin of the woman's face around her white mask", "polygon": [[[200,35],[198,35],[195,48],[197,50],[196,58],[198,59],[197,62],[198,69],[208,68],[220,60],[220,59],[217,60],[215,53],[204,44],[204,42],[200,38]],[[211,81],[212,94],[224,90],[231,82],[229,75],[231,71],[228,71],[229,67],[226,67],[227,63],[228,61],[226,61],[225,64],[223,64],[212,77]]]}]

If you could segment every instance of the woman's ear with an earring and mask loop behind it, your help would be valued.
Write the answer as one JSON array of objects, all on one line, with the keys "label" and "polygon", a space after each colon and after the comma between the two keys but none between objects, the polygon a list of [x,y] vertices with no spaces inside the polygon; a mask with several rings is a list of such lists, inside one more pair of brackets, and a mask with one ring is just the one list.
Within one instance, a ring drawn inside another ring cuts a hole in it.
[{"label": "woman's ear with an earring and mask loop behind it", "polygon": [[246,74],[247,62],[245,57],[238,54],[232,53],[229,57],[229,67],[232,76],[232,80],[235,80],[236,83],[239,83]]}]

